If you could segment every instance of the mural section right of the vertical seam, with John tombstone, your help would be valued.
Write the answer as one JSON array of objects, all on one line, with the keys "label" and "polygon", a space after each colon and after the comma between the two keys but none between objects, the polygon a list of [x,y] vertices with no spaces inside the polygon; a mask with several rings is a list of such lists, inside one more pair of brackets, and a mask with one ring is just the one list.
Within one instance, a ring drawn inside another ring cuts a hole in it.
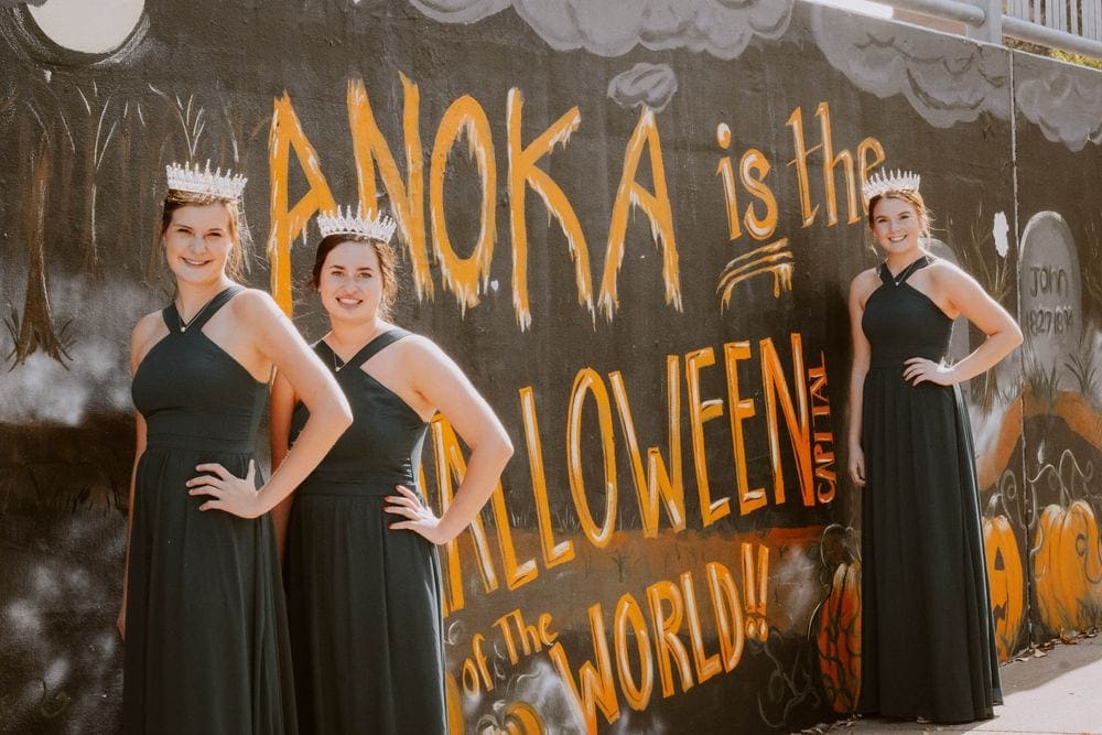
[{"label": "mural section right of the vertical seam, with John tombstone", "polygon": [[[1102,621],[1102,518],[1098,468],[1102,448],[1102,207],[1089,197],[1054,196],[1088,191],[1102,171],[1096,95],[1084,94],[1095,77],[1079,68],[1055,83],[1054,105],[1085,115],[1030,125],[1036,120],[1039,80],[1052,72],[1035,57],[1018,64],[1022,161],[1018,221],[1023,230],[1019,270],[1024,345],[1020,401],[1024,465],[1014,473],[1013,493],[1025,496],[1019,543],[1027,550],[1029,624],[1034,637],[1067,635]],[[1017,68],[1017,67],[1016,67]],[[1089,101],[1088,101],[1089,100]],[[1041,140],[1063,147],[1041,148]],[[1037,151],[1040,153],[1034,153]],[[1022,504],[1019,504],[1019,507]],[[1069,545],[1070,543],[1070,545]]]}]

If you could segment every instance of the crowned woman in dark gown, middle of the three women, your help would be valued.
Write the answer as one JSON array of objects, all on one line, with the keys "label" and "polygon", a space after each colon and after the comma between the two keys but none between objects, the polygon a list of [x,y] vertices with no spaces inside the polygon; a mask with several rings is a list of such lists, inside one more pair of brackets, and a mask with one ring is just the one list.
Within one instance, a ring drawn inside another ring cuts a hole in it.
[{"label": "crowned woman in dark gown, middle of the three women", "polygon": [[[441,572],[434,544],[467,527],[512,446],[458,367],[391,324],[392,220],[318,217],[314,288],[331,331],[315,345],[352,404],[352,428],[294,494],[284,584],[299,726],[310,733],[445,733]],[[471,447],[441,518],[418,487],[440,411]],[[277,380],[272,457],[310,414]]]}]

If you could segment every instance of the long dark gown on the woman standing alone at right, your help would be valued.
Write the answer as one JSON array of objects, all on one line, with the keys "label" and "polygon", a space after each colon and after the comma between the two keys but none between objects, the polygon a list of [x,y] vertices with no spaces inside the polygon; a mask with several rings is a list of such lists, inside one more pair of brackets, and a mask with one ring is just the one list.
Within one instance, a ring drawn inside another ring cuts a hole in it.
[{"label": "long dark gown on the woman standing alone at right", "polygon": [[954,723],[1002,703],[972,430],[960,390],[908,383],[904,360],[940,360],[952,320],[880,264],[862,328],[862,691],[858,710]]}]

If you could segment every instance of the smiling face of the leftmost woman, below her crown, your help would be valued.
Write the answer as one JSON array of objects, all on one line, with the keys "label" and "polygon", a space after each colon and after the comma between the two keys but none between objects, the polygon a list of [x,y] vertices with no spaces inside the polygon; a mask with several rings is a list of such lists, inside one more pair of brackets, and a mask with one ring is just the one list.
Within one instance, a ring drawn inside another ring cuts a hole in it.
[{"label": "smiling face of the leftmost woman, below her crown", "polygon": [[225,278],[226,263],[236,246],[230,213],[222,202],[185,204],[173,209],[161,239],[176,280],[193,285]]}]

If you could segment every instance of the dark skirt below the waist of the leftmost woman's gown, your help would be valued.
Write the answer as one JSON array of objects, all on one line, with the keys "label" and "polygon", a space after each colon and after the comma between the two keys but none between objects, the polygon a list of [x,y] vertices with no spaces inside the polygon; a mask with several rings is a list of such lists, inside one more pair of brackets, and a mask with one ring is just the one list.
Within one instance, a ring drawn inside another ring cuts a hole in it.
[{"label": "dark skirt below the waist of the leftmost woman's gown", "polygon": [[249,454],[155,445],[139,461],[123,655],[123,731],[272,735],[298,720],[268,516],[202,511],[195,466],[244,476]]}]

